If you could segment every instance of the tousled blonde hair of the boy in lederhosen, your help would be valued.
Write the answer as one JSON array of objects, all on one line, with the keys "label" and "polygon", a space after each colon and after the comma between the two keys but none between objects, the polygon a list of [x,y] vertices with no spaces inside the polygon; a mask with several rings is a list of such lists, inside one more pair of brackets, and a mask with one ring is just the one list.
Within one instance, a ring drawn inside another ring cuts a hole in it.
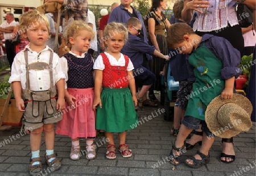
[{"label": "tousled blonde hair of the boy in lederhosen", "polygon": [[[22,35],[22,33],[26,33],[27,29],[31,29],[32,27],[36,27],[40,25],[42,22],[46,23],[46,27],[48,29],[49,38],[51,38],[50,32],[51,29],[49,28],[49,22],[46,15],[41,14],[37,10],[28,11],[21,15],[18,33]],[[26,38],[28,40],[28,38]],[[29,40],[28,40],[29,41]]]}]

